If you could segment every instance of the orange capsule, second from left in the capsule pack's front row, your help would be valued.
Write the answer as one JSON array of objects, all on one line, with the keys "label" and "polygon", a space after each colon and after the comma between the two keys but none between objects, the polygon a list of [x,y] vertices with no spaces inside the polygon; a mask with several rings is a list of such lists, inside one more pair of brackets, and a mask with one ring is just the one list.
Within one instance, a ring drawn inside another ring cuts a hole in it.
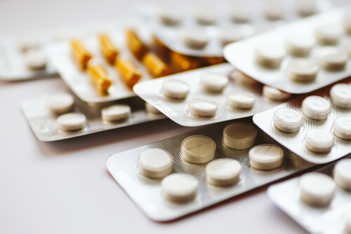
[{"label": "orange capsule, second from left in the capsule pack's front row", "polygon": [[115,67],[129,88],[133,88],[135,83],[138,83],[142,77],[138,67],[130,60],[117,60]]}]

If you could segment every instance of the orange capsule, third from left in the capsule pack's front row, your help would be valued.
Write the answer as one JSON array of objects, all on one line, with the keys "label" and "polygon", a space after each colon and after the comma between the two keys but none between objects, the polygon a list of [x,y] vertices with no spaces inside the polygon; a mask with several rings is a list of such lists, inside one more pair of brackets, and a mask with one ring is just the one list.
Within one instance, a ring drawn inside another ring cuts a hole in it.
[{"label": "orange capsule, third from left in the capsule pack's front row", "polygon": [[154,78],[171,75],[168,65],[152,52],[143,57],[143,64]]}]

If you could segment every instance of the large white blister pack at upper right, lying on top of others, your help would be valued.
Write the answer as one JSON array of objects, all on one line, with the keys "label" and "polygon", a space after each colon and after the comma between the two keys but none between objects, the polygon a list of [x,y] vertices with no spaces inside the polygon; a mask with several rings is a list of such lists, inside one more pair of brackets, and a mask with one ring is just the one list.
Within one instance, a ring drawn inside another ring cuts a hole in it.
[{"label": "large white blister pack at upper right, lying on top of others", "polygon": [[261,83],[307,93],[351,75],[350,6],[225,47],[228,62]]}]

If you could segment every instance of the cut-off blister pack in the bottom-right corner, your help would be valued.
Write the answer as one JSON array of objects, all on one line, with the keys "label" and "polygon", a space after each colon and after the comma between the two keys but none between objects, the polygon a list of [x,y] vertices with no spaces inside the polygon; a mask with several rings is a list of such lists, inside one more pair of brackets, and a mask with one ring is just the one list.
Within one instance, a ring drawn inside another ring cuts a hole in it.
[{"label": "cut-off blister pack in the bottom-right corner", "polygon": [[[309,233],[351,233],[350,156],[268,188],[270,199]],[[312,199],[312,200],[310,200]]]}]

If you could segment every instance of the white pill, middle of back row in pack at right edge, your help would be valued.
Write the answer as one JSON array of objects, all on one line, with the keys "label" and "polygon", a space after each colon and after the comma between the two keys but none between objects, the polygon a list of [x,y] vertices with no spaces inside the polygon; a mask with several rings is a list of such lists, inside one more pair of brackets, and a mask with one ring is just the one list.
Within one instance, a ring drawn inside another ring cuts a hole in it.
[{"label": "white pill, middle of back row in pack at right edge", "polygon": [[312,95],[303,99],[302,110],[309,118],[324,120],[328,117],[331,106],[323,97]]}]

